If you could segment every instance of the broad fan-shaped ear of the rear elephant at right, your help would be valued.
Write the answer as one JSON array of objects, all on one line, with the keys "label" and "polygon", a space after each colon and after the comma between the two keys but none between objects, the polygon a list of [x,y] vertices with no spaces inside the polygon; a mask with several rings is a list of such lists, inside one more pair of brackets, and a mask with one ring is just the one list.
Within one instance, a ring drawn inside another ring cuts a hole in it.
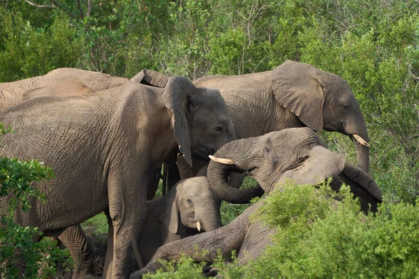
[{"label": "broad fan-shaped ear of the rear elephant at right", "polygon": [[271,76],[278,103],[317,132],[323,130],[324,75],[330,74],[309,64],[286,60],[272,70]]}]

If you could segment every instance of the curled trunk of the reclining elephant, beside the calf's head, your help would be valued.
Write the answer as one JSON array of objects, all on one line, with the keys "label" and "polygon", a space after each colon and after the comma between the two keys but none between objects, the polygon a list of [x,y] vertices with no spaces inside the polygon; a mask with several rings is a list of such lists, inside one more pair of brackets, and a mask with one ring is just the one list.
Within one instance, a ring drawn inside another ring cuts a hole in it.
[{"label": "curled trunk of the reclining elephant, beside the calf's head", "polygon": [[259,146],[260,144],[255,137],[236,140],[224,145],[214,154],[216,158],[228,158],[235,163],[235,165],[226,165],[212,160],[208,165],[207,179],[215,195],[222,200],[235,204],[245,204],[250,202],[253,197],[263,195],[263,189],[260,187],[235,188],[228,181],[228,176],[232,172],[245,172],[256,167],[254,162],[258,158]]}]

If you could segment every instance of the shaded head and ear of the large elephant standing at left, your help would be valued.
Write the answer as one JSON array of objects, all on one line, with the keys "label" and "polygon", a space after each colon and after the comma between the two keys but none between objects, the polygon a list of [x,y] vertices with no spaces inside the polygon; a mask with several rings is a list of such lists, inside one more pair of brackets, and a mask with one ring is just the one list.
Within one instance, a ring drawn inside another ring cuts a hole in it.
[{"label": "shaded head and ear of the large elephant standing at left", "polygon": [[175,76],[168,78],[162,97],[172,112],[179,151],[191,167],[192,158],[208,160],[209,154],[235,139],[233,123],[218,90],[197,88],[185,77]]}]

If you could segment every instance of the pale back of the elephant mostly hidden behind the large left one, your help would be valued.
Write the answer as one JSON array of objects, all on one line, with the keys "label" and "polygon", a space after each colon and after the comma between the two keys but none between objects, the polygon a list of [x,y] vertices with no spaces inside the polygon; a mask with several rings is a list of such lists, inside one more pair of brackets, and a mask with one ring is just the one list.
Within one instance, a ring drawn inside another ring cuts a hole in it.
[{"label": "pale back of the elephant mostly hidden behind the large left one", "polygon": [[47,96],[81,96],[124,85],[125,77],[74,68],[57,68],[44,76],[0,83],[0,112],[25,100]]}]

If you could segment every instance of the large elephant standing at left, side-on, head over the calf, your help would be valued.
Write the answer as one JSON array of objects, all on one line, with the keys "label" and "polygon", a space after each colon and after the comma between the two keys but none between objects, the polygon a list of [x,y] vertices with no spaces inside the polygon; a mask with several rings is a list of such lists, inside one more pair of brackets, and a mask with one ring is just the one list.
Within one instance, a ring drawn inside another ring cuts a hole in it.
[{"label": "large elephant standing at left, side-on, head over the calf", "polygon": [[[140,74],[139,74],[140,75]],[[129,255],[145,221],[147,188],[170,150],[205,158],[235,137],[219,91],[170,77],[164,89],[140,84],[87,96],[28,100],[1,114],[15,133],[0,156],[37,158],[56,179],[34,186],[47,202],[31,201],[15,221],[59,236],[109,207],[112,278],[126,278]],[[0,199],[1,213],[10,197]]]}]

